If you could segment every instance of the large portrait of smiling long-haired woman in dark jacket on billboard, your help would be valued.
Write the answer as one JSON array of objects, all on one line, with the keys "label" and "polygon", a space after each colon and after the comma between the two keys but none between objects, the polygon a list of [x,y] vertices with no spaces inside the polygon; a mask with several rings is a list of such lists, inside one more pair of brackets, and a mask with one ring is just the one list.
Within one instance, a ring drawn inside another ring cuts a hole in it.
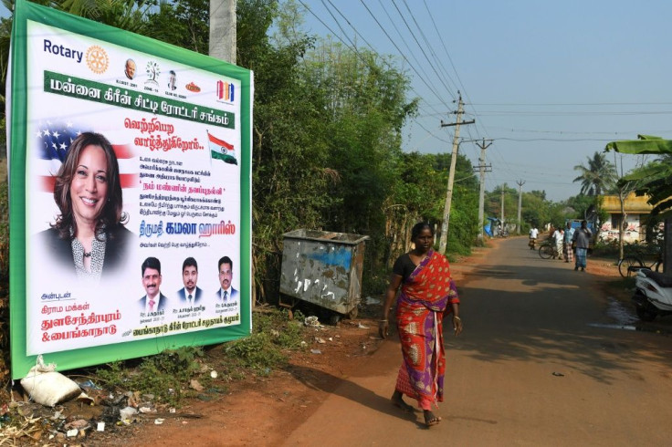
[{"label": "large portrait of smiling long-haired woman in dark jacket on billboard", "polygon": [[97,282],[125,259],[131,232],[124,226],[119,161],[110,141],[81,133],[58,170],[54,201],[59,214],[42,243],[59,265],[80,280]]}]

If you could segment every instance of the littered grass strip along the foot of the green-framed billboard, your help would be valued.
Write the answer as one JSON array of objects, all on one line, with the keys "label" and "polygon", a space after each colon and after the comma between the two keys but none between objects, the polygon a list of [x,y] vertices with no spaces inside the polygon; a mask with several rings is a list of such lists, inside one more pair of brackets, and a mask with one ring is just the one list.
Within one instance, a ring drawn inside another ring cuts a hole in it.
[{"label": "littered grass strip along the foot of the green-framed billboard", "polygon": [[[297,315],[298,314],[298,315]],[[156,405],[179,407],[184,399],[207,399],[226,392],[233,380],[268,376],[284,366],[289,352],[302,347],[303,317],[271,307],[253,311],[253,333],[216,348],[185,347],[165,350],[143,359],[109,363],[85,372],[105,389],[152,395]],[[305,345],[305,344],[304,344]],[[211,375],[216,371],[216,375]],[[194,380],[202,387],[195,389]]]}]

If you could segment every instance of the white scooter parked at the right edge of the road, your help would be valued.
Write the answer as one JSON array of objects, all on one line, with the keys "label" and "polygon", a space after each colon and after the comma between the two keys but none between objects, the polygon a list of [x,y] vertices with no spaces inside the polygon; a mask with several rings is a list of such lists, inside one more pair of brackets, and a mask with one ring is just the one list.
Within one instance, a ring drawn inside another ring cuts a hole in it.
[{"label": "white scooter parked at the right edge of the road", "polygon": [[638,270],[632,300],[637,317],[642,321],[653,321],[657,316],[672,314],[672,276],[648,268]]}]

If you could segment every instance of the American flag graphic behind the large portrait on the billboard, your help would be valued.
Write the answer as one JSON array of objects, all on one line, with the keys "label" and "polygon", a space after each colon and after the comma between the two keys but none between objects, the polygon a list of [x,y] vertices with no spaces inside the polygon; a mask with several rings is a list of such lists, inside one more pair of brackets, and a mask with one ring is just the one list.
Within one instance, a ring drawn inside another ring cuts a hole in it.
[{"label": "American flag graphic behind the large portrait on the billboard", "polygon": [[[39,159],[37,175],[42,191],[54,191],[56,175],[61,164],[66,160],[70,143],[85,131],[93,130],[82,129],[71,122],[47,121],[37,126],[35,131],[35,138],[38,141],[37,157]],[[137,167],[133,167],[133,163],[128,162],[135,156],[131,146],[115,141],[109,135],[105,135],[105,137],[110,140],[112,149],[119,161],[121,188],[137,187],[139,180]]]}]

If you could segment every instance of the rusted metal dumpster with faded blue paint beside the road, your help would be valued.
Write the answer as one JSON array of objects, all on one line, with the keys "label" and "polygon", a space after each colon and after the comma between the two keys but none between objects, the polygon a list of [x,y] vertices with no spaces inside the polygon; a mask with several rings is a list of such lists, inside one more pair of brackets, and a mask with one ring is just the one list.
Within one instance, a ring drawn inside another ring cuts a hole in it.
[{"label": "rusted metal dumpster with faded blue paint beside the road", "polygon": [[354,318],[369,236],[317,230],[283,234],[280,292]]}]

